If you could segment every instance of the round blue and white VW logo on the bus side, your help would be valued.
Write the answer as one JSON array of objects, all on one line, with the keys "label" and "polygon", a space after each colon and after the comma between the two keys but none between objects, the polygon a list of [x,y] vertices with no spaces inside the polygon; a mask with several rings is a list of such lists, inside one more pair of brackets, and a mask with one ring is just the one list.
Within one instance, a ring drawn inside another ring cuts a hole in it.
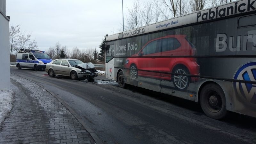
[{"label": "round blue and white VW logo on the bus side", "polygon": [[[237,69],[234,79],[256,81],[256,61],[248,62]],[[236,93],[247,101],[256,104],[256,84],[234,82]]]}]

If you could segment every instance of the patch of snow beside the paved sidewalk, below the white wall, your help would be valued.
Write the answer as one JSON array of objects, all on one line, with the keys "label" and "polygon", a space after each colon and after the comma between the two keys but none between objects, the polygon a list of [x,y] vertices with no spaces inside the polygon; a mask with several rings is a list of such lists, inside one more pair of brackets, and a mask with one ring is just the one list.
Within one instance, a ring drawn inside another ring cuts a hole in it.
[{"label": "patch of snow beside the paved sidewalk, below the white wall", "polygon": [[12,109],[14,92],[6,90],[0,90],[0,127],[4,118],[8,115]]}]

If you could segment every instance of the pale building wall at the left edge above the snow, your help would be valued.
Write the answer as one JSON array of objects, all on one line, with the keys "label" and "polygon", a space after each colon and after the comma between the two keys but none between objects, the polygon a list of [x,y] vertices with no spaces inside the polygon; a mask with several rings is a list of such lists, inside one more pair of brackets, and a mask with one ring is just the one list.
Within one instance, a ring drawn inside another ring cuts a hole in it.
[{"label": "pale building wall at the left edge above the snow", "polygon": [[6,1],[0,0],[0,90],[10,90],[10,40]]}]

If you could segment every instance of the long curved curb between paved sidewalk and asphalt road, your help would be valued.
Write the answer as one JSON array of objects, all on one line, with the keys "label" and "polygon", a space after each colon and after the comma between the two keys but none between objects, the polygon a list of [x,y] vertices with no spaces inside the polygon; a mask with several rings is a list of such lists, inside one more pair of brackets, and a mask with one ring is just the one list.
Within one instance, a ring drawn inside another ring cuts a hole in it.
[{"label": "long curved curb between paved sidewalk and asphalt road", "polygon": [[[11,74],[13,74],[13,73],[11,73]],[[16,75],[16,74],[13,74],[13,75]],[[19,76],[19,75],[16,75],[16,76]],[[22,76],[20,76],[20,77],[22,77]],[[24,78],[24,77],[22,77],[22,78]],[[29,79],[27,79],[27,78],[24,78],[24,79],[26,79],[26,80],[28,80],[28,81],[34,83],[34,84],[37,84],[36,82],[34,82],[34,81],[32,81],[32,80],[29,80]],[[81,118],[80,116],[78,116],[77,113],[76,113],[66,102],[64,102],[64,101],[63,101],[60,97],[58,97],[55,93],[53,93],[53,92],[48,91],[47,89],[45,89],[43,85],[41,85],[41,84],[37,84],[37,85],[39,85],[40,87],[42,87],[44,90],[46,90],[47,92],[49,92],[50,94],[52,94],[52,96],[54,96],[57,100],[59,100],[60,103],[63,104],[63,105],[71,112],[72,115],[75,116],[75,118],[79,121],[79,123],[83,125],[83,127],[86,129],[86,131],[90,133],[90,135],[92,136],[92,139],[93,139],[97,144],[103,144],[103,142],[100,140],[100,138],[98,137],[98,135],[97,135],[94,131],[92,131],[91,128],[89,128],[89,127],[86,126],[86,124],[84,123],[84,121],[82,120],[82,118]]]}]

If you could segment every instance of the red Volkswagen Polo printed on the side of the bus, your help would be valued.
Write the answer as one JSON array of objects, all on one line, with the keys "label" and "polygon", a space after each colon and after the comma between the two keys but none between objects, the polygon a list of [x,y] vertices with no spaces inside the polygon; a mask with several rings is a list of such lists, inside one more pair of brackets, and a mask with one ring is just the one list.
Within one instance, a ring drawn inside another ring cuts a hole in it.
[{"label": "red Volkswagen Polo printed on the side of the bus", "polygon": [[[195,54],[196,48],[186,35],[168,35],[148,41],[137,54],[125,60],[124,66],[130,69],[127,71],[130,79],[146,76],[172,80],[176,88],[186,90],[189,81],[198,79],[187,75],[200,75],[196,58],[186,57]],[[177,75],[171,76],[170,72]]]}]

